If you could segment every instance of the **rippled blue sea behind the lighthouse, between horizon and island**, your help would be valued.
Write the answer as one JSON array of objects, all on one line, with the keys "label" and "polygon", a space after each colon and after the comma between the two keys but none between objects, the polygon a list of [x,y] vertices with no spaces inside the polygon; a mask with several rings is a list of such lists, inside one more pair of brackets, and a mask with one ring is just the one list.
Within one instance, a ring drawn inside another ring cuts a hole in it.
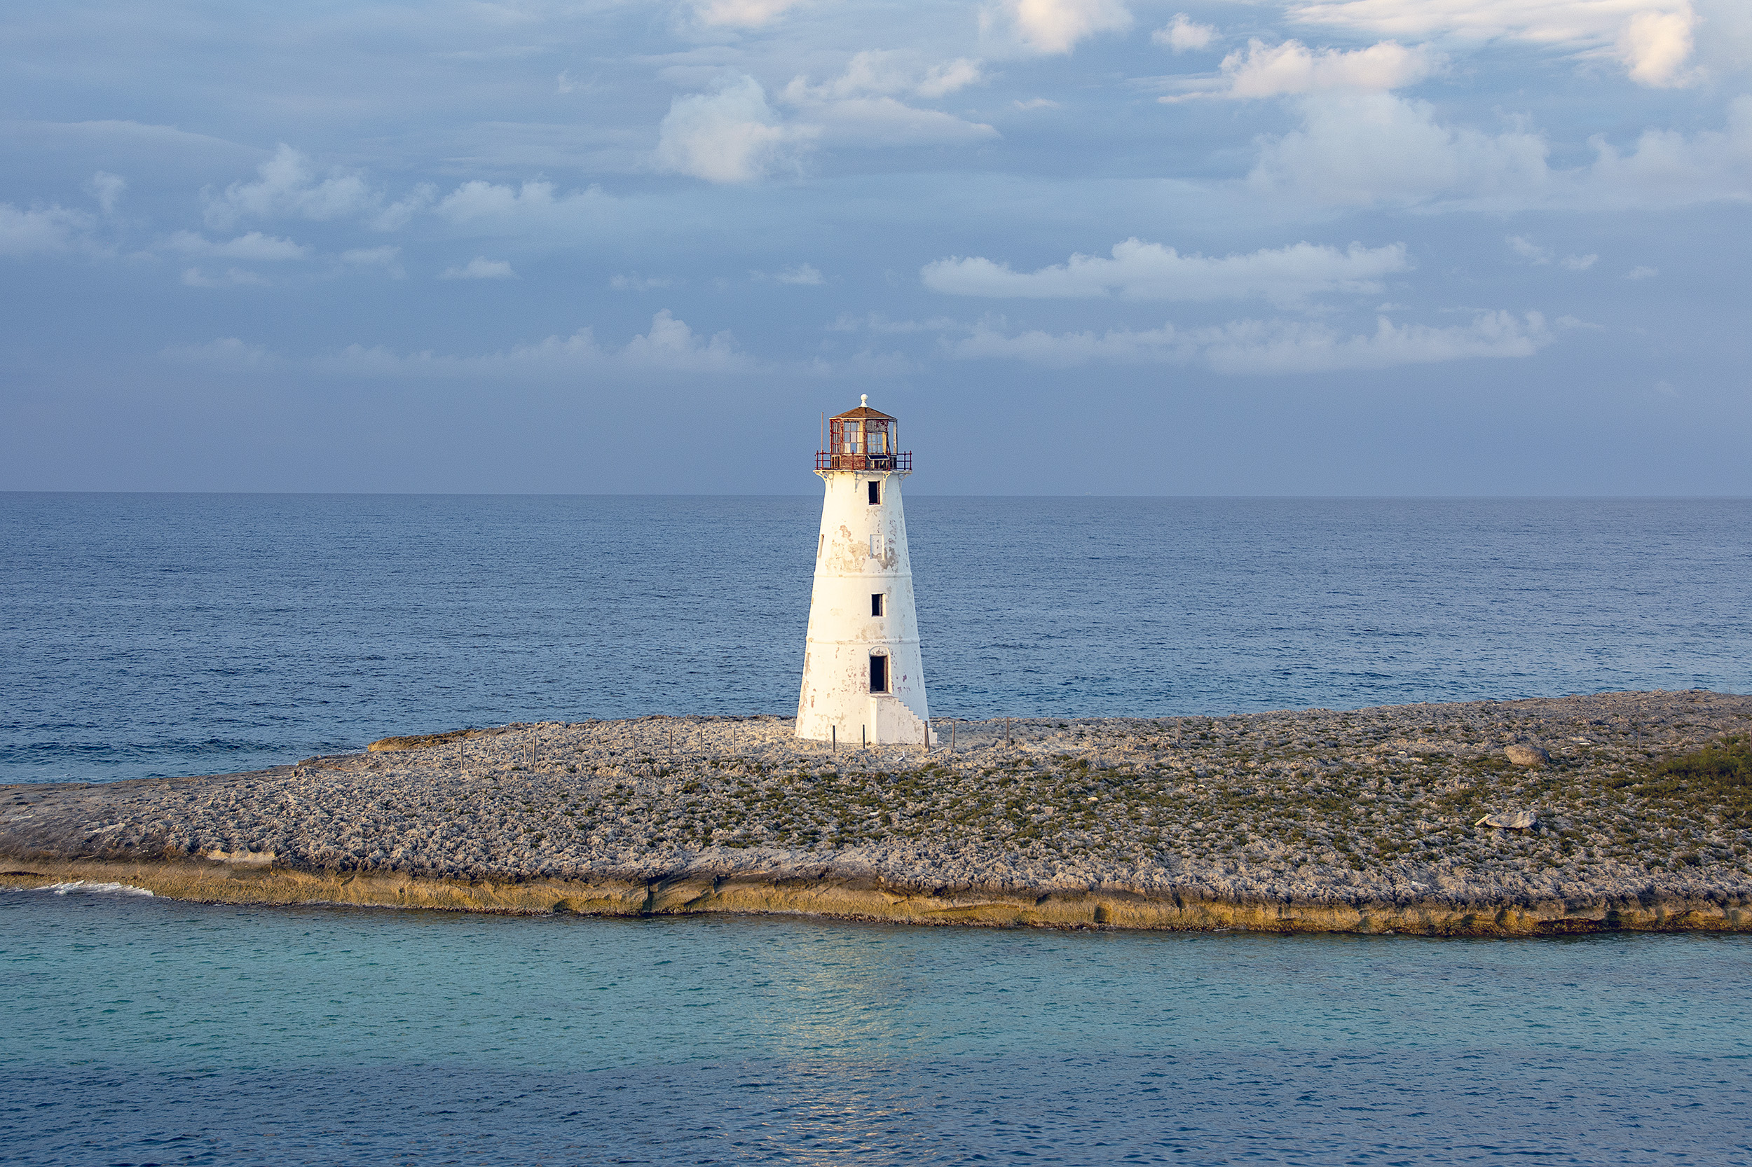
[{"label": "rippled blue sea behind the lighthouse, between horizon and island", "polygon": [[[795,713],[818,498],[0,494],[0,782]],[[932,711],[1752,689],[1747,499],[908,499]]]}]

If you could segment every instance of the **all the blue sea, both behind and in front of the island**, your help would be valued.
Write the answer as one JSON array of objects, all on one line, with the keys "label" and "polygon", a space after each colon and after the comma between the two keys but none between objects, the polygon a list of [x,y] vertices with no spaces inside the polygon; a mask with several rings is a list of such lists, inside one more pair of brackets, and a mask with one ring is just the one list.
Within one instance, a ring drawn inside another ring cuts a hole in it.
[{"label": "all the blue sea, both behind and in front of the island", "polygon": [[[0,494],[0,782],[795,701],[813,498]],[[908,499],[932,711],[1752,690],[1752,501]],[[4,1163],[1752,1163],[1752,937],[0,892]]]}]

